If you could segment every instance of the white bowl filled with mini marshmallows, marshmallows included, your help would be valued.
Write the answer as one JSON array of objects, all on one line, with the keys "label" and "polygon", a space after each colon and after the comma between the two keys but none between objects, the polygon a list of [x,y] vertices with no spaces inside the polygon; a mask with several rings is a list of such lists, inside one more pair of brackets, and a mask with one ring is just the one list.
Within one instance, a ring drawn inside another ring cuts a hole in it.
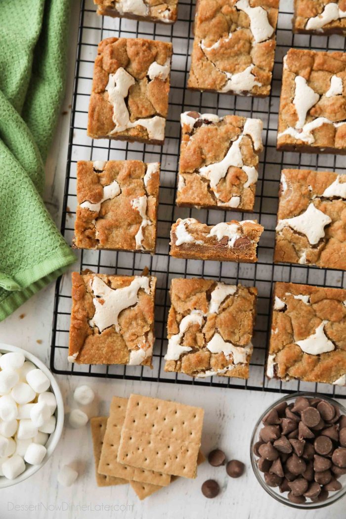
[{"label": "white bowl filled with mini marshmallows, marshmallows included", "polygon": [[64,424],[59,386],[31,353],[0,343],[0,488],[37,472]]}]

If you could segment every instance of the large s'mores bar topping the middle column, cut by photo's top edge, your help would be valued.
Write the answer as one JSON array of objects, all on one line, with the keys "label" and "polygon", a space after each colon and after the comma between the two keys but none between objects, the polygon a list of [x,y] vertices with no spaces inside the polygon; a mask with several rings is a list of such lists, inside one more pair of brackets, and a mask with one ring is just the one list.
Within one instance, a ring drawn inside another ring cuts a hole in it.
[{"label": "large s'mores bar topping the middle column, cut by photo's top edge", "polygon": [[279,0],[199,0],[188,88],[266,97]]}]

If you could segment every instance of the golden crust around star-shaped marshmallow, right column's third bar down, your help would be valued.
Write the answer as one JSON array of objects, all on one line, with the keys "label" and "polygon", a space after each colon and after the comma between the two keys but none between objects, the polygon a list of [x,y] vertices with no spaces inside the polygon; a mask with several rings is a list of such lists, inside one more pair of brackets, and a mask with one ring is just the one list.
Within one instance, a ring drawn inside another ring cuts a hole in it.
[{"label": "golden crust around star-shaped marshmallow, right column's third bar down", "polygon": [[[340,188],[336,189],[339,196],[323,196],[325,189],[337,181],[339,175],[329,171],[294,169],[283,170],[282,175],[287,187],[284,190],[281,187],[278,220],[298,216],[313,203],[316,209],[330,217],[331,222],[324,227],[325,236],[315,245],[288,225],[276,231],[274,262],[346,270],[346,200]],[[340,175],[341,185],[342,180],[343,175]]]}]

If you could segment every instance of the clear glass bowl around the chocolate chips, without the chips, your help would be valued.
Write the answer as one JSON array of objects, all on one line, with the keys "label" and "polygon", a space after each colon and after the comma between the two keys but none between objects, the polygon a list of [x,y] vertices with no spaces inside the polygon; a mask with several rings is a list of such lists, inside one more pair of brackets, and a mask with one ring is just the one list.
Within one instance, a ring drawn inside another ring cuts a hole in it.
[{"label": "clear glass bowl around the chocolate chips, without the chips", "polygon": [[301,392],[301,393],[293,393],[286,395],[285,397],[281,398],[280,400],[274,402],[266,411],[258,418],[257,424],[255,425],[254,431],[251,436],[251,446],[250,446],[250,459],[251,459],[251,465],[253,468],[253,471],[255,473],[255,476],[257,478],[257,481],[260,483],[262,488],[266,490],[266,492],[276,499],[276,501],[279,501],[280,503],[286,504],[289,507],[292,508],[300,508],[300,509],[315,509],[315,508],[323,508],[327,507],[329,504],[335,503],[335,501],[338,501],[341,499],[344,495],[346,495],[346,474],[341,476],[338,481],[342,484],[342,488],[340,490],[337,490],[336,492],[330,492],[328,498],[325,501],[321,502],[312,502],[312,501],[306,501],[302,504],[296,504],[292,503],[288,500],[287,493],[281,494],[279,491],[279,487],[270,487],[267,485],[267,483],[264,480],[264,474],[258,469],[256,460],[258,459],[257,456],[254,454],[254,445],[256,442],[259,441],[259,431],[263,427],[262,419],[266,416],[269,411],[276,405],[280,404],[281,402],[287,402],[287,404],[291,404],[294,402],[294,400],[297,397],[307,397],[307,398],[321,398],[323,400],[326,400],[327,402],[335,405],[339,408],[339,411],[341,414],[346,415],[346,408],[341,405],[336,400],[333,400],[328,397],[324,397],[321,394],[318,393],[309,393],[309,392]]}]

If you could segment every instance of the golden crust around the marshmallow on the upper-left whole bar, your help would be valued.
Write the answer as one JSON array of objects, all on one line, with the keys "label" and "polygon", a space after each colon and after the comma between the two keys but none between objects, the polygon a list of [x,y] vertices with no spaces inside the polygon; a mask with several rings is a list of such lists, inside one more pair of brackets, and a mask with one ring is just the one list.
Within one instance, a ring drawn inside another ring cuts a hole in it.
[{"label": "golden crust around the marshmallow on the upper-left whole bar", "polygon": [[[147,76],[149,66],[155,61],[159,65],[170,62],[172,44],[142,38],[106,38],[100,42],[95,59],[92,91],[89,103],[88,135],[93,139],[118,139],[127,141],[162,144],[163,138],[149,135],[147,128],[135,125],[121,131],[115,130],[114,107],[108,99],[106,86],[110,74],[124,69],[135,83],[124,98],[130,122],[137,119],[161,117],[168,112],[170,75],[152,80]],[[120,110],[120,108],[118,108]],[[111,133],[112,132],[112,133]]]}]

